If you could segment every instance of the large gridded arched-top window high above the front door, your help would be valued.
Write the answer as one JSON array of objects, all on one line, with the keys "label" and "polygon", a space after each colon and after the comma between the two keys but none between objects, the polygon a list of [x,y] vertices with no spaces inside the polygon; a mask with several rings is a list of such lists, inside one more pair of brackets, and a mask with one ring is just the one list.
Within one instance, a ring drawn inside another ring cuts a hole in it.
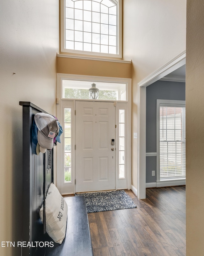
[{"label": "large gridded arched-top window high above the front door", "polygon": [[61,52],[121,57],[120,1],[61,0]]}]

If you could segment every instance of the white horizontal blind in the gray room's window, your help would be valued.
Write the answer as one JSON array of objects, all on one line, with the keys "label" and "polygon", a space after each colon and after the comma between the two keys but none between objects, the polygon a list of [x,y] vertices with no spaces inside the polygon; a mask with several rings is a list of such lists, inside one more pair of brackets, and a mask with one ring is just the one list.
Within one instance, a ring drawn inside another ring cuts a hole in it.
[{"label": "white horizontal blind in the gray room's window", "polygon": [[160,179],[186,177],[185,107],[160,106]]}]

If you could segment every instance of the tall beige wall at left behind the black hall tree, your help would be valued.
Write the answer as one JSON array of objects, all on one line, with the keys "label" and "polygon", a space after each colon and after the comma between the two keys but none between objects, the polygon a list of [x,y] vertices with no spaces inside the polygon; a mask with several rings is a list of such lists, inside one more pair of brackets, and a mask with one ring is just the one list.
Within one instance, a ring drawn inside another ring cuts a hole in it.
[{"label": "tall beige wall at left behind the black hall tree", "polygon": [[[1,1],[0,241],[21,241],[22,107],[19,101],[31,101],[55,114],[58,20],[58,0]],[[19,256],[20,251],[0,247],[0,255]]]}]

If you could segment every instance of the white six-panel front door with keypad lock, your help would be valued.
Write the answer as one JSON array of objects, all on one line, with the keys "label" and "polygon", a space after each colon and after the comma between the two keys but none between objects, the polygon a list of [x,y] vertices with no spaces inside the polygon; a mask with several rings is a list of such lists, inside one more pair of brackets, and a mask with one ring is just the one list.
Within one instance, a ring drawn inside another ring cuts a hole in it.
[{"label": "white six-panel front door with keypad lock", "polygon": [[76,192],[115,189],[113,102],[76,101]]}]

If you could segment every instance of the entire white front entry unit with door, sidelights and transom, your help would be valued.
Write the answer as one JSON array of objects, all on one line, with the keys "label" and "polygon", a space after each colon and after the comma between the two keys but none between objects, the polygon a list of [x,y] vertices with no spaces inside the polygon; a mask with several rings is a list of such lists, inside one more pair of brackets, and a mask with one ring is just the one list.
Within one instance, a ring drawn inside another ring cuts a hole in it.
[{"label": "entire white front entry unit with door, sidelights and transom", "polygon": [[[57,148],[61,194],[130,189],[131,79],[58,74],[57,81],[64,128]],[[89,99],[93,82],[98,99]]]}]

